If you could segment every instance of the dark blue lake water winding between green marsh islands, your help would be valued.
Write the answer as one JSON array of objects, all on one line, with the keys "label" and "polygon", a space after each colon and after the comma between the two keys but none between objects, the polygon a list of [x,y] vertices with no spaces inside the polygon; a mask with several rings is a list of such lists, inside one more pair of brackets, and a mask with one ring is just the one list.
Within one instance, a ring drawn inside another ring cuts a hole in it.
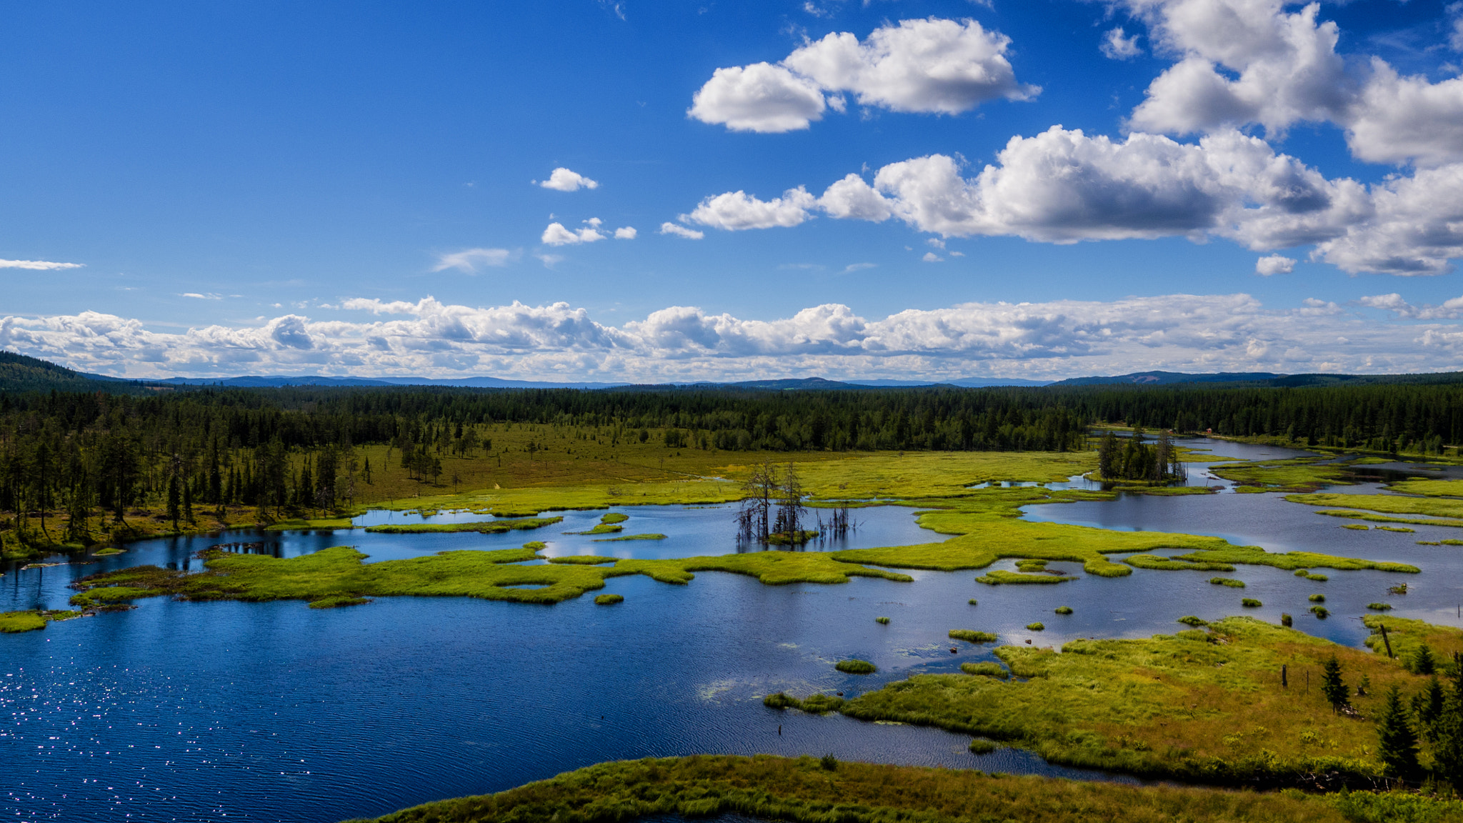
[{"label": "dark blue lake water winding between green marsh islands", "polygon": [[[1238,458],[1287,455],[1257,455],[1249,451],[1257,447],[1235,444],[1214,448]],[[604,514],[587,511],[508,535],[357,529],[151,540],[91,564],[28,571],[12,565],[0,577],[0,611],[61,608],[72,593],[67,583],[104,568],[196,567],[190,556],[219,542],[262,542],[281,556],[356,545],[370,561],[531,539],[546,540],[550,555],[736,551],[729,507],[617,511],[631,515],[623,533],[669,537],[594,543],[562,535],[590,529]],[[1355,618],[1378,599],[1403,617],[1460,625],[1454,615],[1463,599],[1463,548],[1416,545],[1456,536],[1456,529],[1353,532],[1280,495],[1236,494],[1040,505],[1027,507],[1026,517],[1399,559],[1423,574],[1327,570],[1330,580],[1314,583],[1239,567],[1233,577],[1248,589],[1235,590],[1208,584],[1207,574],[1144,570],[1039,587],[986,587],[974,583],[977,571],[913,571],[914,583],[854,578],[777,587],[702,573],[689,586],[613,578],[606,592],[626,597],[619,606],[595,606],[590,597],[554,606],[382,597],[329,611],[300,602],[140,600],[130,612],[0,636],[0,816],[339,820],[499,791],[603,760],[691,753],[832,753],[846,760],[1103,778],[1050,767],[1023,751],[974,756],[967,737],[938,729],[774,712],[761,697],[778,690],[851,696],[914,672],[993,659],[986,647],[964,643],[952,655],[945,637],[951,628],[1059,646],[1074,637],[1169,633],[1186,614],[1241,614],[1242,596],[1264,600],[1252,609],[1257,617],[1277,619],[1287,611],[1298,628],[1353,644],[1365,636]],[[449,518],[481,515],[442,514],[435,521]],[[868,508],[857,518],[860,529],[846,543],[821,548],[938,539],[914,524],[910,508]],[[1052,567],[1081,574],[1077,564]],[[1403,578],[1410,593],[1388,596],[1385,587]],[[1315,592],[1327,595],[1327,621],[1305,611]],[[970,597],[979,606],[970,606]],[[1053,615],[1059,605],[1075,614]],[[891,622],[879,625],[875,617]],[[1024,628],[1037,619],[1048,625],[1045,633]],[[844,658],[872,660],[879,672],[835,672],[832,663]]]}]

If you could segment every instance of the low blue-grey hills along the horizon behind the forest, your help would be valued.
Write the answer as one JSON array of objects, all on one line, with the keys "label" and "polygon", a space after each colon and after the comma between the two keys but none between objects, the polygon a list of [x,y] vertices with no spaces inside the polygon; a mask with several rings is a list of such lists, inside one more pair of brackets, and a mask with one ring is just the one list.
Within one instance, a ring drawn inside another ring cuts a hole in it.
[{"label": "low blue-grey hills along the horizon behind the forest", "polygon": [[1257,387],[1306,387],[1306,385],[1366,385],[1366,384],[1453,384],[1463,382],[1463,372],[1438,372],[1426,375],[1279,375],[1274,372],[1219,372],[1194,375],[1184,372],[1134,372],[1131,375],[1069,378],[1065,381],[1028,381],[1017,378],[960,378],[951,381],[830,381],[824,378],[790,378],[739,382],[691,382],[691,384],[625,384],[625,382],[573,382],[573,381],[512,381],[502,378],[329,378],[329,376],[237,376],[237,378],[167,378],[136,381],[108,378],[76,372],[56,363],[48,363],[25,354],[0,351],[0,391],[108,391],[143,394],[181,387],[228,387],[228,388],[279,388],[287,385],[316,387],[394,387],[433,385],[462,388],[579,388],[579,390],[674,390],[674,388],[745,388],[762,391],[819,391],[857,388],[914,388],[914,387],[1084,387],[1084,385],[1181,385],[1181,384],[1229,384]]}]

